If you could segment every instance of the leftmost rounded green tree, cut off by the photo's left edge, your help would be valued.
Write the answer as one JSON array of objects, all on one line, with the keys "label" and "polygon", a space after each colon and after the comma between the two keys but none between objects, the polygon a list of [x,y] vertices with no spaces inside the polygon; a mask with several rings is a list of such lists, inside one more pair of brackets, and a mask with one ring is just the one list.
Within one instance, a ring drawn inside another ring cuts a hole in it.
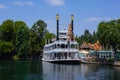
[{"label": "leftmost rounded green tree, cut off by the photo's left edge", "polygon": [[14,55],[13,37],[14,21],[6,20],[0,25],[0,54],[2,59],[12,58]]}]

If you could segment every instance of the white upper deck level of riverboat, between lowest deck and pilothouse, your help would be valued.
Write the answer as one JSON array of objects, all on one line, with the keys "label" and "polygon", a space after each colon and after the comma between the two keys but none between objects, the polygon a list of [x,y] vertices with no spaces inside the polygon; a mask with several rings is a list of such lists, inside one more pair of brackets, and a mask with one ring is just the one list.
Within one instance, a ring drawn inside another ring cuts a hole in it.
[{"label": "white upper deck level of riverboat, between lowest deck and pilothouse", "polygon": [[76,41],[59,40],[44,46],[44,53],[78,52],[79,44]]}]

